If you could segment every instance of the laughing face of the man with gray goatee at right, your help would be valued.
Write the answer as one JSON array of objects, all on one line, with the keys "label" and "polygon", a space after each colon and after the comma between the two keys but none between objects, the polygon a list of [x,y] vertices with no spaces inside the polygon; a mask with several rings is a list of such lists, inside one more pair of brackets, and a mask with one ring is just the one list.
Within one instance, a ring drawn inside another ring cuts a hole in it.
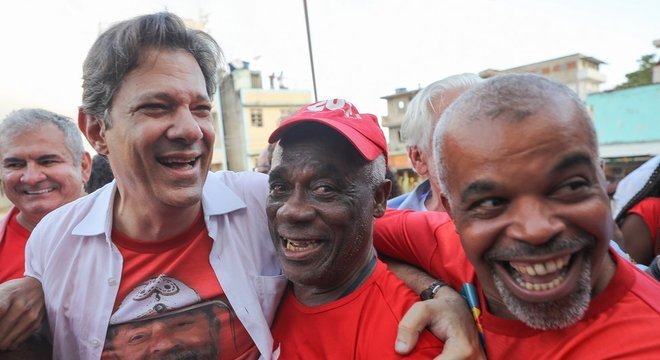
[{"label": "laughing face of the man with gray goatee at right", "polygon": [[[579,320],[613,272],[604,177],[574,106],[448,130],[451,215],[490,311],[538,329]],[[514,136],[515,134],[515,136]]]}]

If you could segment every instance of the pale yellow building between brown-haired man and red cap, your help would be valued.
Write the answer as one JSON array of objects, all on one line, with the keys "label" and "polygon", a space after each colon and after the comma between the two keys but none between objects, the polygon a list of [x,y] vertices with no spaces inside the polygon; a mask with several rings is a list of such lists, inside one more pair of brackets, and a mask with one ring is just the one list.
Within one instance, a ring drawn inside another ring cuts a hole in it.
[{"label": "pale yellow building between brown-haired man and red cap", "polygon": [[[216,140],[219,152],[213,169],[251,170],[268,136],[285,117],[312,102],[309,90],[288,89],[282,74],[269,76],[269,88],[262,86],[261,72],[246,61],[233,61],[220,81]],[[277,80],[277,84],[276,84]],[[221,142],[221,144],[218,144]]]}]

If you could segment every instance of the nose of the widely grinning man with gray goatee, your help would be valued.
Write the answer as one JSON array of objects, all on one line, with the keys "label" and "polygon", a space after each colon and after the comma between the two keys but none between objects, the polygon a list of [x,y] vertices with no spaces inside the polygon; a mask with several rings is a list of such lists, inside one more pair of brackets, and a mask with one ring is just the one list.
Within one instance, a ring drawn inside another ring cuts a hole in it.
[{"label": "nose of the widely grinning man with gray goatee", "polygon": [[513,219],[506,230],[509,238],[540,245],[566,229],[552,205],[543,199],[524,199],[512,205]]}]

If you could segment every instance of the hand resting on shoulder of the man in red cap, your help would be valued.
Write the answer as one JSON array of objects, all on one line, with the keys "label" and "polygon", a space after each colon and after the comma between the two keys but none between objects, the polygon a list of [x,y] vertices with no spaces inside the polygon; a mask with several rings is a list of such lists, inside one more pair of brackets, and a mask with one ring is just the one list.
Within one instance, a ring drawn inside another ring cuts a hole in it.
[{"label": "hand resting on shoulder of the man in red cap", "polygon": [[486,358],[465,300],[449,286],[438,288],[432,299],[417,302],[408,310],[399,322],[396,352],[410,353],[424,328],[445,342],[436,360]]}]

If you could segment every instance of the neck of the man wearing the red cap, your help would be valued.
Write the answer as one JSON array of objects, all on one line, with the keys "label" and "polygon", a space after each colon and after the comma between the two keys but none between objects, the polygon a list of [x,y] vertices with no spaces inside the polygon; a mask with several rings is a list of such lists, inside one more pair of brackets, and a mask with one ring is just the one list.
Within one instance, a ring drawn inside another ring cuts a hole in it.
[{"label": "neck of the man wearing the red cap", "polygon": [[293,284],[293,292],[301,303],[307,306],[319,306],[350,295],[362,285],[376,267],[376,252],[372,248],[363,259],[356,264],[350,276],[329,287]]}]

